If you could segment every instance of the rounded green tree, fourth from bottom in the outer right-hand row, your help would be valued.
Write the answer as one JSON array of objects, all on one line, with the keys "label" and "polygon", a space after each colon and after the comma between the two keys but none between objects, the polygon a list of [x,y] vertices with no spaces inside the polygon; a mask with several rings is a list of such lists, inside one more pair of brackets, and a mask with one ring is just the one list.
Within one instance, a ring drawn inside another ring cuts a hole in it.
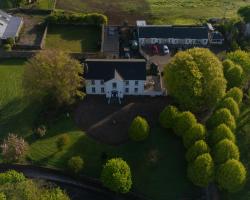
[{"label": "rounded green tree, fourth from bottom in the outer right-hand row", "polygon": [[236,128],[234,116],[227,108],[221,108],[213,113],[207,121],[207,126],[209,129],[214,129],[223,123],[226,124],[232,131]]}]

